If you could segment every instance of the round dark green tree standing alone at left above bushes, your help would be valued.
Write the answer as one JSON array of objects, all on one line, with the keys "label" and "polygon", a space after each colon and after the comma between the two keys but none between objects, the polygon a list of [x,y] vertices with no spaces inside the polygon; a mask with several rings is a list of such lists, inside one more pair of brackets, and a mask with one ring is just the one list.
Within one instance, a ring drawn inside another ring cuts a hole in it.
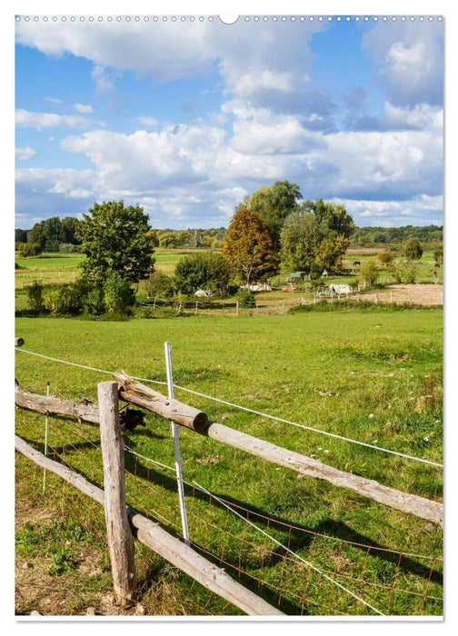
[{"label": "round dark green tree standing alone at left above bushes", "polygon": [[143,207],[108,201],[95,204],[83,217],[77,237],[87,256],[83,271],[88,280],[104,281],[118,272],[129,283],[138,283],[153,270],[151,228]]}]

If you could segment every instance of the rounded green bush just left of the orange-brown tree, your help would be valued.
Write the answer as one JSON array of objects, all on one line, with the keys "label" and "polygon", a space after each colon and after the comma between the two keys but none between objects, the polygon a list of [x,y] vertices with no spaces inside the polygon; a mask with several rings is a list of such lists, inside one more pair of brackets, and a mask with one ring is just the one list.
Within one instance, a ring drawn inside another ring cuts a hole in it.
[{"label": "rounded green bush just left of the orange-brown tree", "polygon": [[176,264],[174,284],[181,293],[198,289],[224,293],[231,277],[231,265],[220,253],[188,254]]}]

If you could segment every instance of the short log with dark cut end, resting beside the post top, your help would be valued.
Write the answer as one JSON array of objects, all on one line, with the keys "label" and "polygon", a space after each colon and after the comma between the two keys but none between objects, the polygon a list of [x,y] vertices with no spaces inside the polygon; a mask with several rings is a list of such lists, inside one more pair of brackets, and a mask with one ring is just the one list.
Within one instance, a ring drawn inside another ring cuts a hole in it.
[{"label": "short log with dark cut end, resting beside the post top", "polygon": [[206,413],[198,411],[174,398],[165,397],[162,393],[135,382],[125,374],[113,373],[113,377],[120,385],[119,397],[124,402],[142,406],[147,411],[161,415],[166,420],[186,426],[195,432],[202,433],[208,427],[209,422]]}]

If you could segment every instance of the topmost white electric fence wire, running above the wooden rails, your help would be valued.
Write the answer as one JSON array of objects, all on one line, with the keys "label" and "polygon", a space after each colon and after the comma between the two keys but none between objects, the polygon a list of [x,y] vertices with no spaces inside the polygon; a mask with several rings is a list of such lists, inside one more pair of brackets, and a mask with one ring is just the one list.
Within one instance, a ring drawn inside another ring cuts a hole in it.
[{"label": "topmost white electric fence wire, running above the wooden rails", "polygon": [[[43,353],[35,353],[33,351],[27,351],[26,349],[15,348],[15,351],[20,351],[22,353],[30,353],[31,355],[36,355],[39,358],[45,358],[45,360],[51,360],[55,363],[69,364],[70,366],[76,366],[80,369],[87,369],[88,371],[96,371],[98,373],[108,373],[112,375],[111,371],[105,371],[103,369],[95,369],[94,367],[85,366],[84,364],[77,363],[69,363],[65,360],[59,360],[58,358],[52,358],[49,355],[44,355]],[[138,380],[139,382],[152,383],[152,384],[162,384],[167,386],[167,383],[160,382],[159,380],[150,380],[149,378],[139,378],[134,375],[131,375],[133,380]],[[388,452],[392,455],[397,455],[398,457],[403,457],[404,459],[413,460],[413,462],[422,462],[427,463],[431,466],[437,466],[438,468],[443,468],[442,463],[431,462],[430,460],[424,460],[421,457],[415,457],[413,455],[407,455],[403,452],[391,451],[388,448],[383,448],[382,446],[375,446],[374,444],[368,444],[366,442],[360,442],[359,440],[353,440],[350,437],[343,437],[343,435],[338,435],[334,432],[321,431],[320,429],[314,428],[313,426],[307,426],[306,424],[299,424],[298,422],[292,422],[291,420],[284,420],[284,418],[277,417],[275,415],[270,415],[269,413],[264,413],[261,411],[254,411],[254,409],[250,409],[247,406],[241,406],[240,404],[234,404],[234,402],[227,402],[226,400],[221,400],[220,398],[215,398],[212,395],[206,395],[205,393],[199,393],[198,391],[194,391],[193,389],[186,389],[184,386],[179,386],[178,384],[174,384],[174,388],[179,391],[185,391],[186,393],[192,393],[193,395],[198,395],[199,397],[203,397],[206,400],[212,400],[213,402],[219,402],[220,404],[225,404],[226,406],[232,406],[234,409],[239,409],[240,411],[251,412],[254,415],[261,415],[269,420],[274,420],[274,422],[282,422],[284,424],[291,424],[292,426],[297,426],[298,428],[302,428],[306,431],[318,432],[322,435],[327,435],[328,437],[334,437],[334,439],[342,440],[343,442],[351,442],[353,444],[358,444],[359,446],[365,446],[366,448],[371,448],[373,451],[382,451]]]}]

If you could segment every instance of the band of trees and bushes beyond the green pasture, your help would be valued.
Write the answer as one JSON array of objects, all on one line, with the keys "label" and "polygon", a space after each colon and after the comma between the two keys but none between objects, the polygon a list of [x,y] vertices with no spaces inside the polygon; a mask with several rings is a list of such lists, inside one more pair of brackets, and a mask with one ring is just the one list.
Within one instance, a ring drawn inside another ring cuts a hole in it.
[{"label": "band of trees and bushes beyond the green pasture", "polygon": [[[207,236],[221,248],[185,255],[170,277],[154,271],[154,250],[171,231],[153,230],[140,205],[108,201],[95,204],[79,221],[47,219],[35,224],[24,244],[44,249],[54,249],[57,242],[71,244],[86,258],[75,283],[46,289],[35,283],[30,304],[51,313],[126,313],[140,282],[148,293],[176,295],[198,289],[224,294],[231,286],[236,290],[265,283],[280,272],[300,272],[317,280],[342,273],[355,226],[343,205],[304,200],[297,184],[277,181],[246,196],[223,231],[202,231],[201,241]],[[176,234],[199,246],[197,230]],[[418,239],[411,241],[418,249]],[[418,252],[407,256],[419,257]]]}]

